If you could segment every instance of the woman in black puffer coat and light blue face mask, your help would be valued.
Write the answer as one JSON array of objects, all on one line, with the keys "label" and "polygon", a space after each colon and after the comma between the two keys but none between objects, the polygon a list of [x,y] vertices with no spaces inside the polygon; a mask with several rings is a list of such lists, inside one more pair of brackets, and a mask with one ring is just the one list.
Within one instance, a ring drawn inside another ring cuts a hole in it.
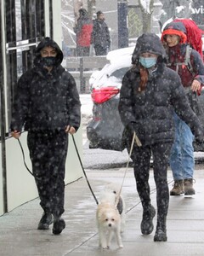
[{"label": "woman in black puffer coat and light blue face mask", "polygon": [[128,152],[133,131],[142,146],[134,143],[131,158],[134,177],[143,206],[141,232],[149,235],[153,229],[155,208],[150,203],[150,157],[153,156],[156,182],[157,224],[154,241],[167,241],[166,219],[169,203],[167,166],[173,145],[173,109],[190,125],[197,140],[203,131],[199,119],[190,108],[184,88],[173,70],[165,67],[165,49],[153,33],[139,37],[133,51],[133,67],[122,80],[119,113],[125,126],[123,134]]}]

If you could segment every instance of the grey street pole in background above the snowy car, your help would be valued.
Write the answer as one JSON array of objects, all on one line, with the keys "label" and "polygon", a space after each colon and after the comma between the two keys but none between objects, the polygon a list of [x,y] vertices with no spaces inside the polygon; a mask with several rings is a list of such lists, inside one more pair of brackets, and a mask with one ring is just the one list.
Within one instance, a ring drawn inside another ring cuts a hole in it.
[{"label": "grey street pole in background above the snowy car", "polygon": [[118,49],[128,47],[127,0],[117,0]]}]

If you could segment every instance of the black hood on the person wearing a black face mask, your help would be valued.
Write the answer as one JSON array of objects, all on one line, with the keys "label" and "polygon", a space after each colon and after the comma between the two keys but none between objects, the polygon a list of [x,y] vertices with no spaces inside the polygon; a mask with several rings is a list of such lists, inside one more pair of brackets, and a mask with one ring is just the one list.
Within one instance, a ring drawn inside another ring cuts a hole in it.
[{"label": "black hood on the person wearing a black face mask", "polygon": [[55,48],[57,50],[57,63],[56,63],[56,67],[58,67],[61,62],[63,61],[63,52],[62,50],[59,48],[59,45],[54,42],[53,39],[51,38],[43,38],[42,41],[37,45],[37,48],[35,50],[35,59],[34,59],[34,65],[35,66],[39,66],[40,62],[41,62],[41,54],[40,51],[46,47],[46,46],[51,46],[53,48]]}]

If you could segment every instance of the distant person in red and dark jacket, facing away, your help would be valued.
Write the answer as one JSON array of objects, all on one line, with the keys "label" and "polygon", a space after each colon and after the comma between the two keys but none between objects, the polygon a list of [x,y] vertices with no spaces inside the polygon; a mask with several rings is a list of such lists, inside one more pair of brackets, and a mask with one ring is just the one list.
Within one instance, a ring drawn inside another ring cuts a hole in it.
[{"label": "distant person in red and dark jacket, facing away", "polygon": [[86,9],[79,9],[79,18],[74,32],[77,37],[77,56],[88,56],[91,44],[93,22],[88,16]]}]

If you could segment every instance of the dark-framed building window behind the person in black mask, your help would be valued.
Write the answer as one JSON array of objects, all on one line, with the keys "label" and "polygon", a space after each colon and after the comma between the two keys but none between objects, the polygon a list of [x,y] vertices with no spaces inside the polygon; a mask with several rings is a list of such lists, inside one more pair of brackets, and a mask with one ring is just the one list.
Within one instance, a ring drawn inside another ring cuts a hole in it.
[{"label": "dark-framed building window behind the person in black mask", "polygon": [[[6,9],[6,62],[7,62],[7,114],[8,124],[11,105],[18,79],[32,67],[34,49],[45,36],[43,0],[7,0]],[[50,26],[52,27],[52,26]],[[7,126],[8,126],[7,124]]]}]

